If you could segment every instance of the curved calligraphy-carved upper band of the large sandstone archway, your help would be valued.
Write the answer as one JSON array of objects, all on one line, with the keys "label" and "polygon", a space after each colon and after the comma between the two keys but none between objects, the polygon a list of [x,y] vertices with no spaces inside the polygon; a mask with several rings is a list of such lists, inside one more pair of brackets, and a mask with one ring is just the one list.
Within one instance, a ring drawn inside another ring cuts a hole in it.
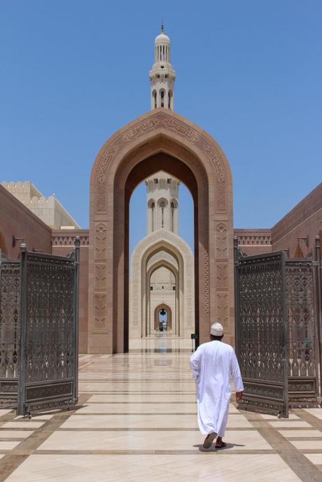
[{"label": "curved calligraphy-carved upper band of the large sandstone archway", "polygon": [[96,186],[95,211],[106,211],[108,209],[106,183],[113,169],[118,166],[120,159],[130,153],[130,150],[135,146],[138,148],[142,139],[145,139],[148,134],[153,134],[153,136],[165,134],[172,139],[176,138],[179,144],[182,143],[192,152],[198,153],[203,158],[203,164],[209,171],[214,208],[216,212],[227,212],[232,179],[228,160],[220,146],[209,134],[196,125],[172,112],[165,112],[162,108],[155,109],[153,112],[131,122],[125,129],[116,132],[100,150],[91,177],[91,185]]}]

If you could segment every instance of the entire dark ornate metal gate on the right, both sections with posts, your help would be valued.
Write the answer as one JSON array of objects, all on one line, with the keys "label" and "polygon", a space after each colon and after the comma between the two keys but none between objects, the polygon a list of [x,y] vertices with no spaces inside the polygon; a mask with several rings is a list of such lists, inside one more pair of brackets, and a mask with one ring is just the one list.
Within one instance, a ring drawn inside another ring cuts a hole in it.
[{"label": "entire dark ornate metal gate on the right, both sections with posts", "polygon": [[241,406],[288,416],[316,402],[318,362],[312,257],[246,256],[235,241],[236,351]]}]

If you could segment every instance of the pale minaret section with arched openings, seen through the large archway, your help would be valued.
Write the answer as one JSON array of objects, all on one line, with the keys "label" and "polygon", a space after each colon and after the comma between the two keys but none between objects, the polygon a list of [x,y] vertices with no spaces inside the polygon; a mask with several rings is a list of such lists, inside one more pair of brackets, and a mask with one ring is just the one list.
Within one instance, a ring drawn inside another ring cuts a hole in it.
[{"label": "pale minaret section with arched openings, seen through the large archway", "polygon": [[179,184],[165,172],[146,179],[147,234],[158,229],[179,234]]}]

